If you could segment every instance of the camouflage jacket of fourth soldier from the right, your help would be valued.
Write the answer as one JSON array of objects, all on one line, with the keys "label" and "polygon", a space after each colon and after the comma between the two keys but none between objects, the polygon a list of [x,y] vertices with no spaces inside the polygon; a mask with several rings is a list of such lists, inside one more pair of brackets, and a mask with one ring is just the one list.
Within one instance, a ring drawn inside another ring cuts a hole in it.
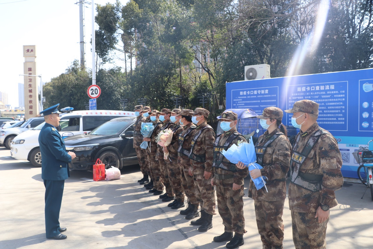
[{"label": "camouflage jacket of fourth soldier from the right", "polygon": [[[202,129],[204,126],[208,125],[207,122],[204,122],[196,127],[193,138],[197,135],[198,130]],[[200,174],[204,171],[212,171],[212,163],[214,160],[214,142],[215,142],[215,132],[213,129],[205,129],[201,135],[197,138],[195,142],[193,153],[196,155],[204,155],[205,162],[197,162],[194,160],[191,161],[193,167],[193,173]],[[185,142],[184,142],[185,143]]]}]

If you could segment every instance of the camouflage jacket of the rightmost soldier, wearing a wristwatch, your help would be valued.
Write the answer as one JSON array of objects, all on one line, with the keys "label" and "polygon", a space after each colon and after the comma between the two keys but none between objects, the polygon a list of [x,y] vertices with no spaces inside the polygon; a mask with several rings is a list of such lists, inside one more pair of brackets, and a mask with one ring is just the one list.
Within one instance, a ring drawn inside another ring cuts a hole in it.
[{"label": "camouflage jacket of the rightmost soldier, wearing a wristwatch", "polygon": [[[317,122],[305,132],[300,131],[298,142],[295,142],[293,151],[301,152],[308,139],[317,130],[322,129]],[[326,131],[325,129],[322,129]],[[327,132],[327,131],[326,131]],[[297,137],[295,138],[297,141]],[[294,165],[292,164],[293,168]],[[338,202],[335,199],[335,190],[341,189],[343,176],[341,173],[342,157],[336,139],[327,132],[320,135],[310,154],[304,160],[299,171],[307,174],[322,175],[322,188],[317,192],[311,192],[301,186],[290,183],[289,208],[295,212],[316,212],[320,205],[335,207]]]}]

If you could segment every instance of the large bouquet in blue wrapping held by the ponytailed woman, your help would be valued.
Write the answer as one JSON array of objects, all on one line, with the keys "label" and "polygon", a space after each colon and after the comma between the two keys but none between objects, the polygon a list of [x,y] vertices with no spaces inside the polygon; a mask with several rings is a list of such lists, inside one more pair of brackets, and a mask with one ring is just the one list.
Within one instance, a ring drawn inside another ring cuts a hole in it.
[{"label": "large bouquet in blue wrapping held by the ponytailed woman", "polygon": [[[250,137],[250,140],[248,142],[244,141],[238,141],[238,146],[233,144],[231,147],[229,147],[226,151],[223,150],[222,154],[227,158],[231,163],[237,164],[238,162],[242,162],[246,165],[246,167],[250,170],[253,170],[255,168],[261,169],[263,167],[260,166],[260,164],[256,163],[256,152],[255,152],[255,146],[253,143],[253,138]],[[264,176],[265,178],[265,176]],[[262,187],[266,187],[266,181],[264,180],[263,176],[251,179],[253,180],[255,187],[257,190],[261,189]],[[268,190],[267,190],[268,192]]]}]

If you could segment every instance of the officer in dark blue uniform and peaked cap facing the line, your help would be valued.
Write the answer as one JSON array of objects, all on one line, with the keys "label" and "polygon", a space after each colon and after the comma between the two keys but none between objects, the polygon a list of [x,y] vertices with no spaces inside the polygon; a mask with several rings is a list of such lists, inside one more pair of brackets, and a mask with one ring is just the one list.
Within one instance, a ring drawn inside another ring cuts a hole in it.
[{"label": "officer in dark blue uniform and peaked cap facing the line", "polygon": [[70,176],[68,163],[74,159],[74,152],[66,152],[65,143],[56,127],[59,126],[60,112],[58,106],[53,105],[41,111],[46,124],[39,134],[41,162],[41,178],[46,187],[45,193],[45,220],[46,237],[48,239],[66,239],[61,234],[66,228],[61,228],[59,223],[60,209],[65,179]]}]

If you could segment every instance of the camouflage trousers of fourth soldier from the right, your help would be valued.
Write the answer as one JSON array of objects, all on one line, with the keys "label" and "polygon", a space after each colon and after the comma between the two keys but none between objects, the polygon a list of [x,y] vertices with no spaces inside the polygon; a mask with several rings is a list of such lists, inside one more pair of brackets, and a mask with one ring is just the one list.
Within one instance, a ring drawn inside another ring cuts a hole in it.
[{"label": "camouflage trousers of fourth soldier from the right", "polygon": [[211,186],[211,179],[206,180],[203,176],[203,172],[204,171],[201,173],[196,173],[193,171],[195,188],[197,190],[195,195],[197,201],[199,201],[201,204],[201,210],[204,210],[208,214],[216,214],[215,190],[214,187]]}]

